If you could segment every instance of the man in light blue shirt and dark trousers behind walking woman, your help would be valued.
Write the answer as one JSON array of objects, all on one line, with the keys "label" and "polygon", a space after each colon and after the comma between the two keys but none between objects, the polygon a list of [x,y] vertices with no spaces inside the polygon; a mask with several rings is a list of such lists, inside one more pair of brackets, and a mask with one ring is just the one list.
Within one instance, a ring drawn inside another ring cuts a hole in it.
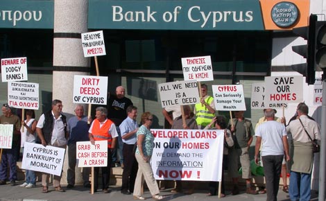
[{"label": "man in light blue shirt and dark trousers behind walking woman", "polygon": [[127,118],[123,120],[119,126],[121,131],[121,138],[123,141],[124,159],[121,193],[125,195],[130,195],[134,191],[135,179],[138,171],[138,164],[134,152],[134,148],[135,146],[137,146],[137,107],[129,105],[127,107],[127,114]]}]

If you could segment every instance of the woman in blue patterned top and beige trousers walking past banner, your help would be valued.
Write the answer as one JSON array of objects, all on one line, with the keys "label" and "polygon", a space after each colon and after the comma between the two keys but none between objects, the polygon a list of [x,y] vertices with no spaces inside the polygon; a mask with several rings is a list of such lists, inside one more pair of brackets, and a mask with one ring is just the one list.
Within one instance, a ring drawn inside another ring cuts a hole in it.
[{"label": "woman in blue patterned top and beige trousers walking past banner", "polygon": [[155,200],[162,200],[164,197],[159,195],[160,189],[157,186],[157,182],[153,176],[153,170],[150,164],[153,154],[153,141],[154,136],[151,133],[151,125],[153,123],[153,115],[151,112],[144,112],[141,114],[141,127],[137,131],[137,149],[135,157],[138,162],[138,172],[135,181],[134,199],[145,200],[146,198],[141,196],[141,186],[144,184],[144,180],[148,186],[151,195]]}]

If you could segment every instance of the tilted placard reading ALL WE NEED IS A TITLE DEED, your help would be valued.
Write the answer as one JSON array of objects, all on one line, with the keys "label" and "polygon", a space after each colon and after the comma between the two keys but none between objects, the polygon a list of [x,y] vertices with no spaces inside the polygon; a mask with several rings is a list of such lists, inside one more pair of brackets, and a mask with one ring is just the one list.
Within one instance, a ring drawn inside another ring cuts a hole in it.
[{"label": "tilted placard reading ALL WE NEED IS A TITLE DEED", "polygon": [[162,107],[199,103],[196,80],[165,82],[158,85]]}]

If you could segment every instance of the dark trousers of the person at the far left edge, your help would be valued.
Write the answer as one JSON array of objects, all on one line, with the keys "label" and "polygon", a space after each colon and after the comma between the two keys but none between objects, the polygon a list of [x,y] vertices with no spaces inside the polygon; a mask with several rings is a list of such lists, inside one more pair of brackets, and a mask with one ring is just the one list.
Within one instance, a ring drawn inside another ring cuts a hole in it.
[{"label": "dark trousers of the person at the far left edge", "polygon": [[17,148],[3,149],[1,155],[0,165],[0,180],[7,180],[7,166],[10,166],[9,181],[17,180],[17,167],[16,167]]}]

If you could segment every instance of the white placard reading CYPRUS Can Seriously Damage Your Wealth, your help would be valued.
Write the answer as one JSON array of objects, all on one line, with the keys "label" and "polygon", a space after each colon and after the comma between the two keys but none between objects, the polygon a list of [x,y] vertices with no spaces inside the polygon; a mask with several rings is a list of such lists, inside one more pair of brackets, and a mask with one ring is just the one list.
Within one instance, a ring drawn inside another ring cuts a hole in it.
[{"label": "white placard reading CYPRUS Can Seriously Damage Your Wealth", "polygon": [[212,85],[216,110],[246,111],[242,85]]}]

